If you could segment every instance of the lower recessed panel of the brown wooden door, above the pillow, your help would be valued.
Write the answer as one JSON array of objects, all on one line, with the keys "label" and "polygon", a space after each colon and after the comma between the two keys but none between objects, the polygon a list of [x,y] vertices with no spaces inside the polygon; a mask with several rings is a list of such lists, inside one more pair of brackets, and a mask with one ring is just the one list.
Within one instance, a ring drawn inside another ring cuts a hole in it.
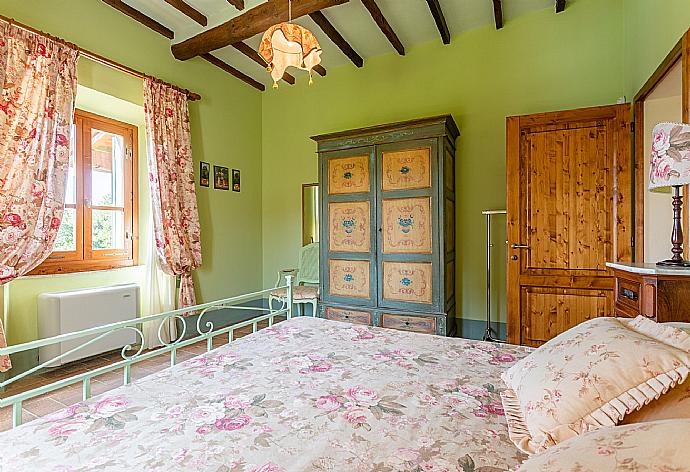
[{"label": "lower recessed panel of the brown wooden door, above the pillow", "polygon": [[539,347],[583,321],[613,316],[613,292],[524,287],[523,344]]}]

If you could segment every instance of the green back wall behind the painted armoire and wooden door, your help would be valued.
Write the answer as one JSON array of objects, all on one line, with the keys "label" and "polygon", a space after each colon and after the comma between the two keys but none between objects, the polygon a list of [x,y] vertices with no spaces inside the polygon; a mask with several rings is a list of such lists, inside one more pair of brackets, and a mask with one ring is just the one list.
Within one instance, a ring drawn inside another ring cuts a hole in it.
[{"label": "green back wall behind the painted armoire and wooden door", "polygon": [[[451,113],[461,130],[456,179],[459,314],[485,313],[485,223],[481,211],[504,209],[506,116],[613,104],[626,93],[620,0],[578,0],[453,38],[367,59],[362,69],[328,70],[264,95],[264,282],[294,266],[300,244],[300,185],[317,179],[309,136]],[[385,41],[382,37],[381,41]],[[496,220],[503,249],[505,219]],[[496,251],[497,306],[504,318],[505,264]],[[494,314],[494,316],[496,316]]]}]

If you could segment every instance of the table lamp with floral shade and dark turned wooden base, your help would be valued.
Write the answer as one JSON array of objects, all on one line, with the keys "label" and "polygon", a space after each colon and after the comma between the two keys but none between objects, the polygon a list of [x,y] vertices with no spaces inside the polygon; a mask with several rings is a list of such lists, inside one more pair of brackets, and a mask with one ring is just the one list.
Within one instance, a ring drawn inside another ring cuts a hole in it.
[{"label": "table lamp with floral shade and dark turned wooden base", "polygon": [[649,189],[673,188],[673,231],[671,259],[657,262],[659,267],[690,268],[683,259],[683,197],[680,188],[690,184],[690,125],[659,123],[652,135],[652,156],[649,166]]}]

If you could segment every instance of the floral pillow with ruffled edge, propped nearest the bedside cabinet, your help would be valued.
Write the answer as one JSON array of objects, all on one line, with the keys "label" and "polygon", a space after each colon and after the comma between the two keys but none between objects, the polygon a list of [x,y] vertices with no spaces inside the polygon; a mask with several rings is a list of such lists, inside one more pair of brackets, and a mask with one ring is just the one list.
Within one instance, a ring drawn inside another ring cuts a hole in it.
[{"label": "floral pillow with ruffled edge, propped nearest the bedside cabinet", "polygon": [[688,374],[690,334],[644,317],[586,321],[503,374],[510,439],[532,454],[614,426]]}]

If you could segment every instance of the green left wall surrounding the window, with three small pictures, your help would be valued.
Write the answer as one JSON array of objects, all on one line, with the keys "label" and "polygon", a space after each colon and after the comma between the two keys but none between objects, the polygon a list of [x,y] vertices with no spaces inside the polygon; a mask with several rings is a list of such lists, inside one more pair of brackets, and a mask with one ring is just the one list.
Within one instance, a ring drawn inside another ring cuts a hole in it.
[{"label": "green left wall surrounding the window, with three small pictures", "polygon": [[[3,0],[0,14],[202,95],[201,101],[190,104],[196,172],[199,161],[240,169],[243,185],[241,193],[197,188],[204,259],[195,274],[197,297],[199,301],[209,301],[256,290],[261,285],[262,271],[261,224],[257,216],[261,213],[261,94],[201,59],[184,63],[175,60],[167,38],[100,1]],[[80,60],[78,72],[80,85],[91,89],[84,94],[87,89],[80,87],[80,106],[88,102],[92,111],[114,118],[119,116],[124,121],[128,121],[126,116],[119,115],[124,110],[132,112],[137,106],[141,109],[141,80],[85,59]],[[92,99],[97,98],[98,92],[120,101],[94,102]],[[140,130],[140,264],[143,264],[150,211],[143,128]],[[13,281],[9,286],[6,314],[9,342],[36,337],[38,293],[141,283],[143,273],[140,266]],[[88,316],[88,313],[80,315]],[[20,359],[19,364],[22,363]],[[21,369],[20,365],[17,367]]]}]

